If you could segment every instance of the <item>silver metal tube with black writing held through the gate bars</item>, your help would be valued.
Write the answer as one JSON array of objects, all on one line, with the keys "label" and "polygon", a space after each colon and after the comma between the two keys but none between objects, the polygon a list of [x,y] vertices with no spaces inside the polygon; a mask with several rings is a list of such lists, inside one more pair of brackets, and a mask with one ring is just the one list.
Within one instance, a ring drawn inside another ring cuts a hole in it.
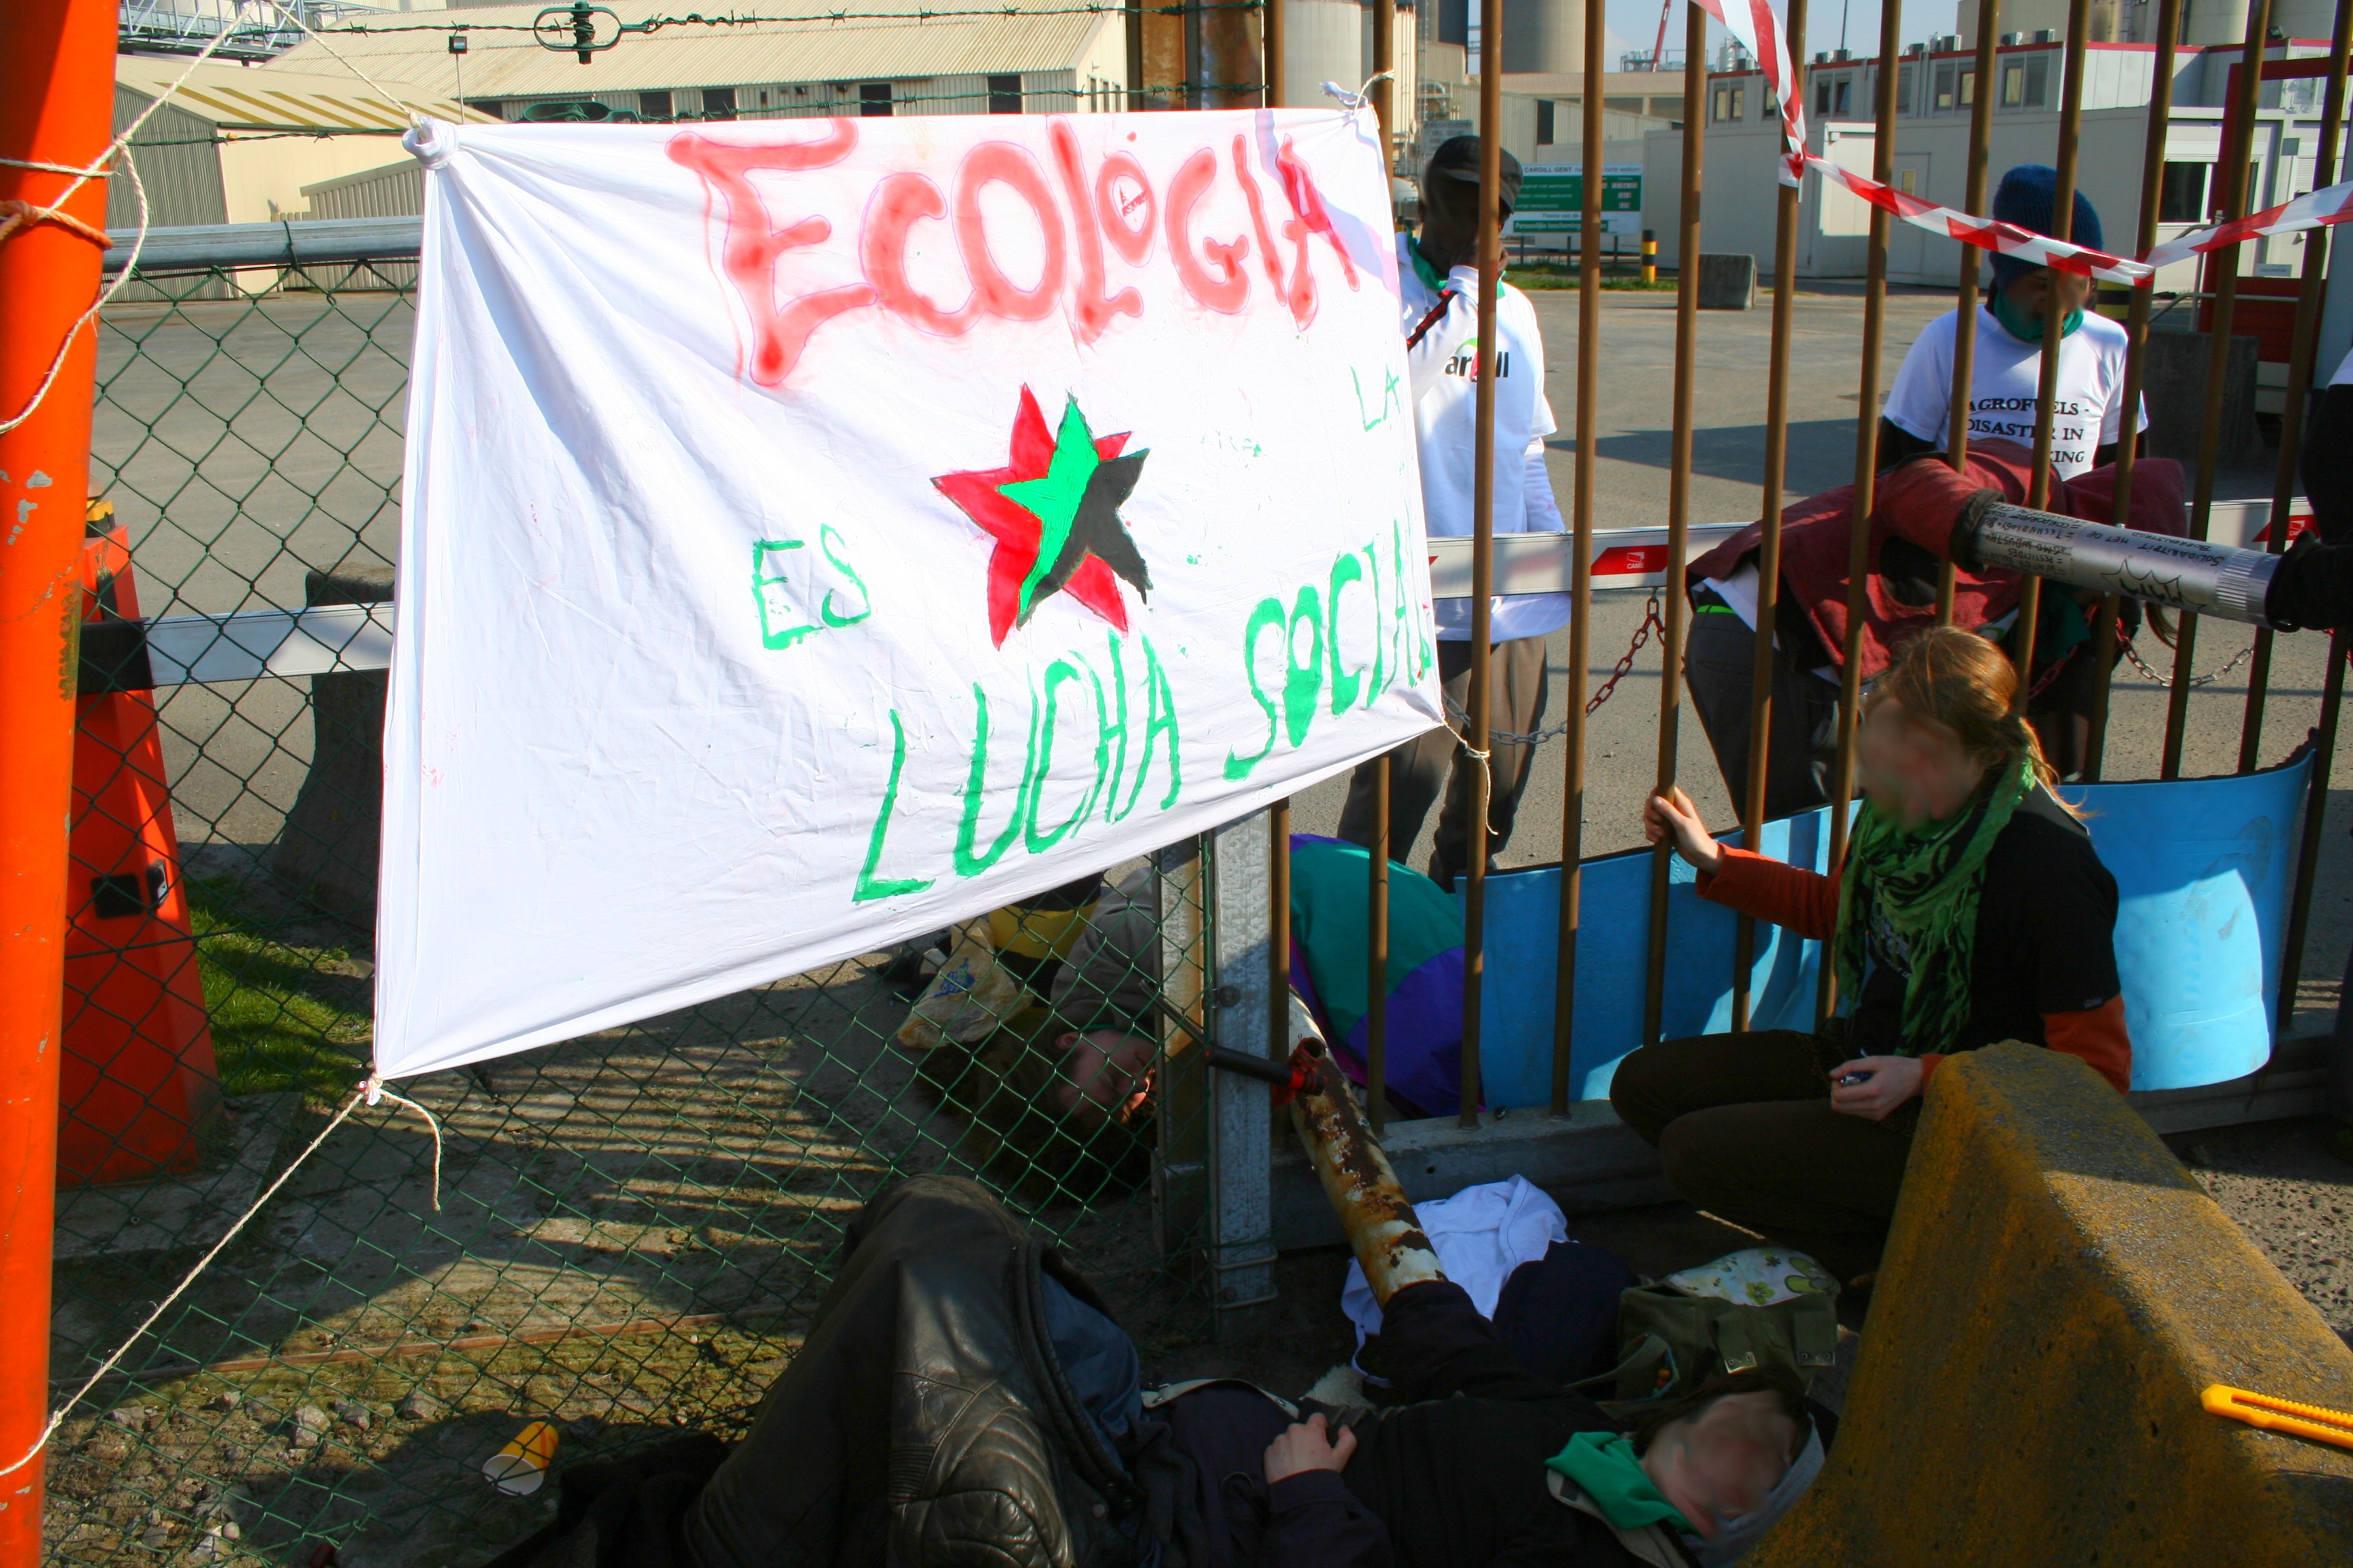
[{"label": "silver metal tube with black writing held through the gate bars", "polygon": [[1991,498],[1969,505],[1953,527],[1953,559],[1972,571],[2009,567],[2252,625],[2271,625],[2264,597],[2280,567],[2268,550],[2115,529]]}]

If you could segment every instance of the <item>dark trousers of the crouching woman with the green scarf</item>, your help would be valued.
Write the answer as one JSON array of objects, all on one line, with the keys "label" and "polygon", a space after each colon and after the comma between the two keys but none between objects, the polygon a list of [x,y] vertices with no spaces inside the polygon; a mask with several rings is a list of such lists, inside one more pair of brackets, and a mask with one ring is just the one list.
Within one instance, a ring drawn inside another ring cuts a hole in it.
[{"label": "dark trousers of the crouching woman with the green scarf", "polygon": [[1609,1105],[1685,1201],[1854,1279],[1887,1244],[1920,1100],[1885,1121],[1831,1110],[1840,1056],[1793,1030],[1664,1039],[1619,1063]]}]

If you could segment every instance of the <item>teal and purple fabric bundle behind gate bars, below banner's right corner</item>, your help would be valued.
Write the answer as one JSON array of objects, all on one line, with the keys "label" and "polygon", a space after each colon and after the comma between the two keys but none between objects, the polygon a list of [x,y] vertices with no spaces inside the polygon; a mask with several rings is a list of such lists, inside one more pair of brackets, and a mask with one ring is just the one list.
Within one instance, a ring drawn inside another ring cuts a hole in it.
[{"label": "teal and purple fabric bundle behind gate bars, below banner's right corner", "polygon": [[[1365,1084],[1372,1004],[1372,853],[1362,844],[1292,835],[1292,987],[1353,1084]],[[1461,1107],[1464,912],[1454,893],[1388,863],[1388,1105],[1400,1119]]]}]

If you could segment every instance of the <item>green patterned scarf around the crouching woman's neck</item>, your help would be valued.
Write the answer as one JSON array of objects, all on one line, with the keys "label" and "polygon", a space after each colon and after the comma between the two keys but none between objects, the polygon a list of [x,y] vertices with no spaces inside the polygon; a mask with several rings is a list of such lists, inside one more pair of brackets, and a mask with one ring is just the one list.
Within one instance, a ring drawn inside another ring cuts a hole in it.
[{"label": "green patterned scarf around the crouching woman's neck", "polygon": [[1838,889],[1838,990],[1849,1004],[1861,997],[1866,936],[1873,919],[1885,919],[1911,950],[1897,1056],[1944,1051],[1969,1023],[1969,957],[1986,856],[2033,788],[2035,764],[2019,757],[1941,823],[1906,832],[1868,799],[1854,813]]}]

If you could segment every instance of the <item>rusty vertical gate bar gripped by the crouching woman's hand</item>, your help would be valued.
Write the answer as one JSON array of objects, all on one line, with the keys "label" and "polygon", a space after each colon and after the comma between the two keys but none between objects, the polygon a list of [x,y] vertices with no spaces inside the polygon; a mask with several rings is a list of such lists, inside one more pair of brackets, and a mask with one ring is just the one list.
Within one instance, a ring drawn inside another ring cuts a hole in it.
[{"label": "rusty vertical gate bar gripped by the crouching woman's hand", "polygon": [[[1894,2],[1894,0],[1889,0]],[[1682,31],[1682,223],[1675,249],[1675,435],[1666,475],[1666,635],[1659,639],[1657,790],[1675,788],[1675,741],[1682,726],[1682,628],[1689,599],[1682,567],[1692,529],[1692,390],[1699,381],[1699,176],[1708,148],[1708,14],[1697,5]],[[1586,96],[1593,96],[1586,89]],[[1591,176],[1588,176],[1591,181]],[[1586,454],[1577,454],[1584,461]],[[1642,973],[1642,1044],[1657,1044],[1666,1020],[1666,879],[1673,844],[1649,853],[1649,947]]]}]

